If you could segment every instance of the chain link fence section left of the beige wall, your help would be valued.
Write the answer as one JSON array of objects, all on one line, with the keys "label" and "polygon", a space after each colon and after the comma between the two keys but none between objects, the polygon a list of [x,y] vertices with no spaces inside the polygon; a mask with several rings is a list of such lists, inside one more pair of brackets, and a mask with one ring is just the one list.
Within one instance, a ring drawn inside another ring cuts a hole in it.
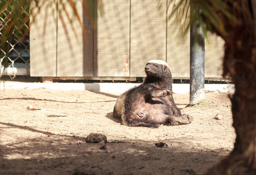
[{"label": "chain link fence section left of the beige wall", "polygon": [[[0,3],[8,4],[8,1],[0,0]],[[29,0],[25,0],[25,3],[18,8],[16,5],[18,3],[10,4],[0,12],[0,37],[2,38],[0,43],[0,77],[2,75],[12,77],[29,75]],[[19,11],[20,14],[18,13],[19,16],[16,17],[17,15],[15,14],[15,16],[13,13],[19,9],[21,10]],[[13,24],[13,30],[9,29]],[[11,32],[6,32],[8,30]]]}]

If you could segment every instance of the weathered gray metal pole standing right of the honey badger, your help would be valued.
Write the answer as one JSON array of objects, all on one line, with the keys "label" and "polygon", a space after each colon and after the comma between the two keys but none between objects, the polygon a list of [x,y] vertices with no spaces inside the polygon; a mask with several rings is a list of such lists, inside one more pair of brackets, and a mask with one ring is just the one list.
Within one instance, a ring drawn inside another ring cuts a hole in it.
[{"label": "weathered gray metal pole standing right of the honey badger", "polygon": [[[192,9],[191,9],[192,12]],[[199,13],[193,10],[192,13]],[[204,99],[204,34],[194,22],[190,25],[190,104]]]}]

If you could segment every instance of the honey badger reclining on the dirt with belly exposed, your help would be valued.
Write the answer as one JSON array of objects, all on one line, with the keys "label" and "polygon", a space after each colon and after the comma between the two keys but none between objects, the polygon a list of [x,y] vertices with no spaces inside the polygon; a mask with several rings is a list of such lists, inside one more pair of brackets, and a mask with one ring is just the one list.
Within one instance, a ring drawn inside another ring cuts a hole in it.
[{"label": "honey badger reclining on the dirt with belly exposed", "polygon": [[172,74],[162,60],[151,60],[145,67],[146,79],[118,97],[113,117],[131,127],[158,127],[189,124],[192,118],[181,114],[172,97]]}]

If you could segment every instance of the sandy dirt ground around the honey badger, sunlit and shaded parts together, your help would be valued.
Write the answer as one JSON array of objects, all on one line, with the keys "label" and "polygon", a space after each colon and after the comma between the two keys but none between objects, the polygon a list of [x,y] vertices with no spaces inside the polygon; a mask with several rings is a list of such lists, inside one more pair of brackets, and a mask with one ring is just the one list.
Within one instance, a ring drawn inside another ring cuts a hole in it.
[{"label": "sandy dirt ground around the honey badger, sunlit and shaded parts together", "polygon": [[[112,118],[118,94],[1,89],[0,174],[203,174],[233,149],[227,95],[208,92],[185,108],[189,94],[174,94],[193,122],[144,128]],[[91,132],[107,136],[106,149],[86,143]]]}]

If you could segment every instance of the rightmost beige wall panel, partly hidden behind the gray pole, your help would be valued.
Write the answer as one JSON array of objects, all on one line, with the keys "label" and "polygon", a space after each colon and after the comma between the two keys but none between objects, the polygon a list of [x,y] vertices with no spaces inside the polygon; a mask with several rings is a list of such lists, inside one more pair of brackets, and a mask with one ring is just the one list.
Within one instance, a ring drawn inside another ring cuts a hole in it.
[{"label": "rightmost beige wall panel, partly hidden behind the gray pole", "polygon": [[[170,5],[173,6],[173,3]],[[172,8],[168,10],[168,15]],[[182,36],[182,28],[175,21],[176,16],[168,20],[167,33],[167,62],[172,71],[173,78],[190,77],[190,33]],[[208,33],[205,40],[204,77],[220,78],[221,65],[224,54],[224,41],[220,37]]]}]

